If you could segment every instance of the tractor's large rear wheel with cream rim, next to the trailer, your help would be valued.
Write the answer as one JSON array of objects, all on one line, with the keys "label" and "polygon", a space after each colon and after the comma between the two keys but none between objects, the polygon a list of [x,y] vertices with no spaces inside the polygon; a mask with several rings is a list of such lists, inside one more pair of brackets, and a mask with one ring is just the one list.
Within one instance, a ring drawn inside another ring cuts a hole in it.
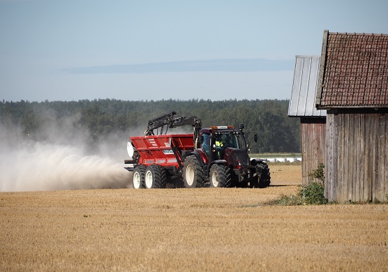
[{"label": "tractor's large rear wheel with cream rim, next to the trailer", "polygon": [[195,156],[187,156],[184,160],[185,188],[200,188],[203,186],[203,169]]}]

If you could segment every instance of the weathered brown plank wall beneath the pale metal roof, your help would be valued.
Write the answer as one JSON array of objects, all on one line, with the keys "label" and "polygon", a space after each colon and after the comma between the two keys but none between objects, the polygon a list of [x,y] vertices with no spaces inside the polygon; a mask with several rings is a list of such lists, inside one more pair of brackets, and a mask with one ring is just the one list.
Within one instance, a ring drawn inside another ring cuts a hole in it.
[{"label": "weathered brown plank wall beneath the pale metal roof", "polygon": [[308,175],[326,162],[326,117],[301,118],[301,183],[308,185]]}]

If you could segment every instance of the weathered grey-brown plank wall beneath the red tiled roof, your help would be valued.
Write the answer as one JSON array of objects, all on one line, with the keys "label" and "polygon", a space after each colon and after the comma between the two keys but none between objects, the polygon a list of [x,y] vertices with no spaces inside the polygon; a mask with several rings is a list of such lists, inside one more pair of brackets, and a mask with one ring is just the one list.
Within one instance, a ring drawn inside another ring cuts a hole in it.
[{"label": "weathered grey-brown plank wall beneath the red tiled roof", "polygon": [[327,111],[324,194],[329,201],[385,201],[388,109]]}]

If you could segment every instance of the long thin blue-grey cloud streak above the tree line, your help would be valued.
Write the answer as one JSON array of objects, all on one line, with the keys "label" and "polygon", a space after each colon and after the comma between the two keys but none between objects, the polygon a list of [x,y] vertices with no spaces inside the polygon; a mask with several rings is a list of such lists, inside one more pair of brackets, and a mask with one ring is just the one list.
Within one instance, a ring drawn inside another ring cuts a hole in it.
[{"label": "long thin blue-grey cloud streak above the tree line", "polygon": [[213,59],[206,61],[172,61],[110,66],[62,68],[61,73],[184,73],[184,72],[253,72],[292,70],[294,60],[270,59]]}]

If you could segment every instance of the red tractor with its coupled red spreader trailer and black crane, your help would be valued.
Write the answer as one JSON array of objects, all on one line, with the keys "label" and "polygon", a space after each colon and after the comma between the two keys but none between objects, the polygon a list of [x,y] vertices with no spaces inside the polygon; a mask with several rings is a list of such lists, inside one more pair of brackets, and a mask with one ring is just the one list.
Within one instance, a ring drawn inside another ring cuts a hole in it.
[{"label": "red tractor with its coupled red spreader trailer and black crane", "polygon": [[[150,120],[144,136],[130,137],[127,149],[132,159],[124,162],[133,171],[133,188],[269,186],[265,160],[248,156],[244,125],[239,130],[232,126],[202,128],[197,117],[174,118],[175,114]],[[193,134],[167,134],[168,128],[186,125],[193,126]],[[158,128],[161,135],[154,135]]]}]

